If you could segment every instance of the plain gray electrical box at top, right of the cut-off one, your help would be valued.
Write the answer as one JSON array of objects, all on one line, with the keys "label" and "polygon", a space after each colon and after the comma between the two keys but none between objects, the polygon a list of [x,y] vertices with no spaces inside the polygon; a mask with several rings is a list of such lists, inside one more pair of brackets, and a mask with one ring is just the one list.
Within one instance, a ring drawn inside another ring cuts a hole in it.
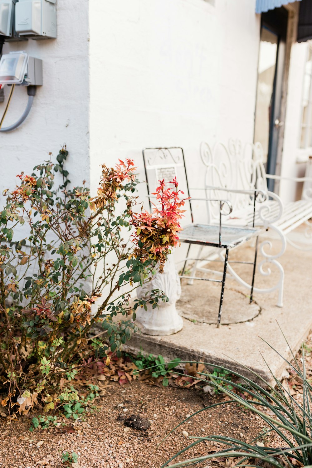
[{"label": "plain gray electrical box at top, right of the cut-off one", "polygon": [[32,39],[55,38],[56,0],[19,0],[15,5],[15,30],[19,36]]}]

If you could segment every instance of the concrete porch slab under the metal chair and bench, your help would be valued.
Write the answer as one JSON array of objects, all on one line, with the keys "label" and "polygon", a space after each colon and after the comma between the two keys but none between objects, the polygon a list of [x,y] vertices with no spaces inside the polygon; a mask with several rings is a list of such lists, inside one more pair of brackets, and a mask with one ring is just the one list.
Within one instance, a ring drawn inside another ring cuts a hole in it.
[{"label": "concrete porch slab under the metal chair and bench", "polygon": [[[302,241],[302,229],[298,230],[298,236]],[[296,235],[292,234],[292,240],[295,239]],[[253,255],[253,246],[248,244],[232,251],[231,258],[251,260]],[[220,286],[206,281],[187,285],[187,280],[183,280],[182,299],[177,303],[184,317],[183,329],[171,336],[137,334],[129,342],[128,350],[138,351],[142,348],[145,353],[162,354],[168,360],[179,357],[181,360],[225,365],[254,379],[253,374],[246,370],[247,366],[272,381],[263,360],[265,358],[272,372],[281,379],[287,365],[261,338],[290,359],[291,351],[299,349],[312,329],[312,251],[297,250],[288,245],[280,261],[285,271],[283,307],[276,307],[277,292],[255,293],[256,305],[249,306],[248,290],[232,278],[227,278],[223,324],[217,329],[215,323]],[[239,273],[246,279],[250,278],[251,268],[250,265],[239,265]],[[255,286],[268,287],[275,284],[276,278],[276,271],[272,271],[268,277],[257,271]],[[290,348],[276,321],[287,337]]]}]

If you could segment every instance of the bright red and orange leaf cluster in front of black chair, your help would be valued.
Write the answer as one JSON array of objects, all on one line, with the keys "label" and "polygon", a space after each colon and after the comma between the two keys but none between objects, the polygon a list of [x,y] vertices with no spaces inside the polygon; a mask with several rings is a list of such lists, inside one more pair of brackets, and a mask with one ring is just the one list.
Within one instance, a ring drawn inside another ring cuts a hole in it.
[{"label": "bright red and orange leaf cluster in front of black chair", "polygon": [[174,187],[166,188],[164,179],[159,181],[156,195],[158,205],[154,205],[152,213],[142,211],[131,212],[131,223],[136,228],[132,240],[136,244],[133,255],[156,260],[159,262],[159,270],[163,271],[170,247],[180,245],[178,233],[182,230],[180,219],[185,210],[181,210],[185,201],[189,198],[180,199],[182,190],[178,190],[176,177],[169,182]]}]

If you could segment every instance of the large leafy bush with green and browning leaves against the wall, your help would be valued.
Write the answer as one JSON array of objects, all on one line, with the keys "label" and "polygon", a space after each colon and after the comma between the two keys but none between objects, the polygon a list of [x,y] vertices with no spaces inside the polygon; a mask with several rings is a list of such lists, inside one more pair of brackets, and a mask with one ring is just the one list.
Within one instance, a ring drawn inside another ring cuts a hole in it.
[{"label": "large leafy bush with green and browning leaves against the wall", "polygon": [[[120,355],[138,330],[134,310],[146,307],[145,300],[131,305],[130,294],[149,281],[173,245],[170,236],[160,257],[151,255],[149,237],[135,246],[129,239],[140,219],[132,160],[103,164],[92,198],[85,181],[70,183],[67,157],[64,147],[55,163],[45,161],[30,176],[22,172],[0,212],[0,401],[8,412],[15,405],[27,410],[36,400],[45,411],[79,400],[74,388],[61,391],[64,380],[74,385],[87,363],[108,365],[111,353]],[[163,234],[161,217],[166,224],[171,214],[162,207],[158,216],[154,239]],[[166,299],[153,290],[148,300]],[[103,331],[95,346],[90,330],[96,324]]]}]

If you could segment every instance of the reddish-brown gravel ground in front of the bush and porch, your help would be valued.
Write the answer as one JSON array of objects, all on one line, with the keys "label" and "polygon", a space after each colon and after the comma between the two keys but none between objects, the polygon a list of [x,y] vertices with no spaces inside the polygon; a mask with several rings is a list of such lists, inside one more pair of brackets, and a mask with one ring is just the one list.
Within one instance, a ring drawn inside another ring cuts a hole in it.
[{"label": "reddish-brown gravel ground in front of the bush and porch", "polygon": [[[98,409],[84,421],[73,423],[73,433],[56,432],[55,428],[29,432],[29,418],[20,417],[12,421],[1,418],[0,467],[64,467],[62,452],[74,451],[78,454],[81,468],[159,468],[175,452],[188,445],[189,440],[182,431],[189,435],[215,433],[247,440],[263,430],[259,417],[250,415],[236,404],[230,408],[225,401],[182,424],[158,448],[161,439],[186,415],[222,401],[222,398],[194,389],[152,387],[136,380],[128,385],[112,383],[106,394],[96,401]],[[150,428],[139,431],[125,427],[121,419],[131,414],[148,419]],[[36,413],[29,414],[30,418],[34,415]],[[69,421],[66,419],[65,424],[70,424]],[[62,425],[59,427],[62,429]],[[199,444],[196,450],[189,451],[188,458],[218,450],[220,446],[213,446],[210,442],[206,446]],[[197,466],[205,467],[207,463]]]}]

